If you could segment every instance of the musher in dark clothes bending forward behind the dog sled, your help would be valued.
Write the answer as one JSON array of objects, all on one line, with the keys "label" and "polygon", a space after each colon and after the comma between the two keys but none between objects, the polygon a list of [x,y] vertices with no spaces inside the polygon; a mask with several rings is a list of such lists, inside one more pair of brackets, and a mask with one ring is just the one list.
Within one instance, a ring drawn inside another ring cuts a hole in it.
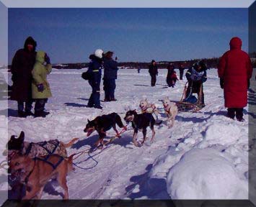
[{"label": "musher in dark clothes bending forward behind the dog sled", "polygon": [[[200,99],[199,106],[204,107],[204,94],[203,94],[203,83],[207,80],[206,74],[206,64],[203,61],[199,61],[198,63],[194,63],[192,68],[187,70],[186,78],[188,81],[187,92],[185,100],[190,102],[190,98],[192,97],[192,93],[198,94],[198,99]],[[194,102],[194,101],[191,101]]]}]

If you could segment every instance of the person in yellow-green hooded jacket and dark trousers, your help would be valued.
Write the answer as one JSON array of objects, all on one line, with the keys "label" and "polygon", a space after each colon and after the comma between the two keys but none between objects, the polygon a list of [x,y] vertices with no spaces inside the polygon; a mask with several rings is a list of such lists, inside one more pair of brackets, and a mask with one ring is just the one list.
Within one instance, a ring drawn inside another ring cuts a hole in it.
[{"label": "person in yellow-green hooded jacket and dark trousers", "polygon": [[44,110],[45,103],[52,96],[47,81],[47,75],[50,74],[51,70],[50,57],[45,52],[38,51],[32,70],[32,99],[35,100],[35,117],[45,117],[50,114]]}]

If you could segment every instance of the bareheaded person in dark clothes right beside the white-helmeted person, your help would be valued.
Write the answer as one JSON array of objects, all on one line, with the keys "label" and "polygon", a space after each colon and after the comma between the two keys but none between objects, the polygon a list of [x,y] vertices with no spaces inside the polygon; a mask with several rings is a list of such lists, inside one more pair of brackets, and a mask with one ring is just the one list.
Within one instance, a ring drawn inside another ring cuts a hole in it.
[{"label": "bareheaded person in dark clothes right beside the white-helmeted person", "polygon": [[112,59],[114,52],[108,51],[103,57],[104,77],[103,89],[105,91],[104,101],[117,101],[115,99],[115,80],[118,78],[118,62],[117,57]]}]

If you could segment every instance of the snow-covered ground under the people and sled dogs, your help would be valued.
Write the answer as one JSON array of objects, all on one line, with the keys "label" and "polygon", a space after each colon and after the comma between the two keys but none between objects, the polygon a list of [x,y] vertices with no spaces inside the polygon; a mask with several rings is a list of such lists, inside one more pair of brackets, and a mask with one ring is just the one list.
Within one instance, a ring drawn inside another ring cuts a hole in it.
[{"label": "snow-covered ground under the people and sled dogs", "polygon": [[[46,104],[50,115],[45,119],[17,118],[17,104],[9,101],[9,117],[0,116],[1,134],[11,137],[23,130],[25,139],[30,142],[49,139],[69,142],[79,137],[68,149],[71,155],[92,147],[97,141],[96,132],[90,137],[83,132],[87,119],[110,112],[117,112],[123,118],[128,106],[138,109],[142,96],[162,108],[159,99],[165,96],[180,101],[186,82],[179,80],[175,88],[167,88],[167,70],[159,70],[156,87],[151,88],[148,70],[141,70],[140,74],[137,70],[119,70],[115,92],[118,101],[102,102],[103,110],[89,109],[85,106],[91,88],[81,79],[83,71],[53,69],[48,76],[53,97]],[[206,107],[198,113],[181,112],[172,129],[168,129],[165,122],[156,126],[153,144],[133,146],[133,131],[128,131],[104,149],[75,160],[84,169],[76,167],[75,172],[68,175],[69,198],[247,199],[248,119],[255,119],[256,114],[250,114],[246,107],[246,121],[226,118],[223,91],[216,72],[208,70],[204,84]],[[5,75],[7,78],[8,74]],[[254,78],[251,82],[255,84]],[[255,95],[251,97],[255,103]],[[7,109],[1,110],[4,113]],[[163,112],[160,115],[161,119],[166,119]],[[4,131],[7,122],[8,132]],[[111,130],[109,134],[114,132]],[[141,132],[138,137],[142,137]],[[5,144],[1,140],[1,151]],[[7,183],[0,184],[1,189],[6,186]],[[61,199],[62,195],[63,190],[53,181],[46,185],[43,199]]]}]

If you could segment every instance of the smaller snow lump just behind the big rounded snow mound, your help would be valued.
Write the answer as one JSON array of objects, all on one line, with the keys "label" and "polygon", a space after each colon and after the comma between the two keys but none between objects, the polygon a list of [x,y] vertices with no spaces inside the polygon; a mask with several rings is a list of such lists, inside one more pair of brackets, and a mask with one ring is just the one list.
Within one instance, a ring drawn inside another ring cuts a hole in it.
[{"label": "smaller snow lump just behind the big rounded snow mound", "polygon": [[239,135],[241,134],[242,127],[237,126],[237,124],[229,123],[217,123],[211,124],[206,129],[206,135],[200,147],[208,147],[213,144],[221,144],[224,146],[229,146],[239,141]]}]

